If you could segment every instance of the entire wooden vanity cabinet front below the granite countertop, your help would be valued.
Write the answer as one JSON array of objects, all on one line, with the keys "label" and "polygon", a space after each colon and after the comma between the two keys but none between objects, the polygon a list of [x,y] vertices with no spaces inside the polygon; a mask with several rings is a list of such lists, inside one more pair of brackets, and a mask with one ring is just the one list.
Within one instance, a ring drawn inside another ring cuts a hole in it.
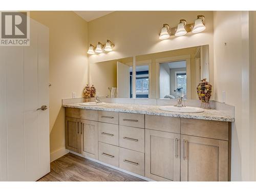
[{"label": "entire wooden vanity cabinet front below the granite countertop", "polygon": [[231,123],[66,108],[66,148],[156,181],[230,180]]}]

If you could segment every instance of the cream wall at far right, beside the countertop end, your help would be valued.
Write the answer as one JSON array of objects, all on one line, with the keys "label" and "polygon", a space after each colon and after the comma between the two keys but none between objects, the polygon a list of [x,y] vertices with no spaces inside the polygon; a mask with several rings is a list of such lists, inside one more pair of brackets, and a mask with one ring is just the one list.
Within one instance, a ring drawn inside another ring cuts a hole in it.
[{"label": "cream wall at far right, beside the countertop end", "polygon": [[[248,11],[214,12],[214,89],[215,99],[235,106],[232,123],[231,180],[253,180],[254,130],[250,120],[254,109],[253,76],[249,62]],[[251,25],[252,26],[252,25]],[[226,42],[226,45],[224,43]],[[253,95],[253,97],[251,97]],[[254,178],[255,180],[255,178]]]}]

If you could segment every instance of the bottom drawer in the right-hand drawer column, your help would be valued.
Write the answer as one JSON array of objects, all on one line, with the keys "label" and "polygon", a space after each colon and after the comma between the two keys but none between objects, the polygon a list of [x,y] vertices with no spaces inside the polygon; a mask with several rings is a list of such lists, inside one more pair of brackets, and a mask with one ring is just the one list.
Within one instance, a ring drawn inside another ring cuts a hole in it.
[{"label": "bottom drawer in the right-hand drawer column", "polygon": [[119,167],[144,176],[144,153],[119,147]]}]

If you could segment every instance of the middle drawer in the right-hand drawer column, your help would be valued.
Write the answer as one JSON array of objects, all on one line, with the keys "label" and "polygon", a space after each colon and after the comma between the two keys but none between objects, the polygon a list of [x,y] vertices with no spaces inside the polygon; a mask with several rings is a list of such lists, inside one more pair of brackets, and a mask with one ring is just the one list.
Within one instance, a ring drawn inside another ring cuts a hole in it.
[{"label": "middle drawer in the right-hand drawer column", "polygon": [[144,153],[144,130],[120,125],[119,143],[121,147]]}]

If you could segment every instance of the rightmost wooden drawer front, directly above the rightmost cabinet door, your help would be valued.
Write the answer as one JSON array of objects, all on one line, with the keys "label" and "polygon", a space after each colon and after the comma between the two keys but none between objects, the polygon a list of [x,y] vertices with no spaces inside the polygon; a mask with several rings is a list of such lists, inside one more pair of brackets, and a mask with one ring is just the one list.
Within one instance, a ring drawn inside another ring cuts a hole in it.
[{"label": "rightmost wooden drawer front, directly above the rightmost cabinet door", "polygon": [[181,118],[181,134],[228,141],[228,122]]}]

